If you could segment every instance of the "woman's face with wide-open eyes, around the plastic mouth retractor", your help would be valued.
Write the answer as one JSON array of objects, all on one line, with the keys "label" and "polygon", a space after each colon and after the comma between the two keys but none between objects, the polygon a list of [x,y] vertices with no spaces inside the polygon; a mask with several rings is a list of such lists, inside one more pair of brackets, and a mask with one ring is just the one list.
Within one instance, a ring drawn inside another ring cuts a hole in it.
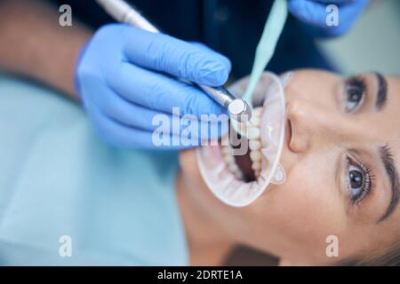
[{"label": "woman's face with wide-open eyes, around the plastic mouth retractor", "polygon": [[[188,151],[180,159],[188,187],[238,241],[292,261],[329,264],[400,238],[400,79],[301,70],[285,98],[284,185],[229,208],[210,196]],[[326,255],[332,235],[338,257]]]}]

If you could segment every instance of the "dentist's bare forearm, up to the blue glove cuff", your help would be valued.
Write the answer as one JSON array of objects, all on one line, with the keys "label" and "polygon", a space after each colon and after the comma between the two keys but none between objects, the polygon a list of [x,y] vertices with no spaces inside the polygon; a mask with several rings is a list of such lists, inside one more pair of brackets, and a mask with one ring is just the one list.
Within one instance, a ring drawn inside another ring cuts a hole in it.
[{"label": "dentist's bare forearm, up to the blue glove cuff", "polygon": [[44,1],[0,1],[0,68],[77,99],[76,59],[92,31],[74,18],[72,27],[61,27],[59,16]]}]

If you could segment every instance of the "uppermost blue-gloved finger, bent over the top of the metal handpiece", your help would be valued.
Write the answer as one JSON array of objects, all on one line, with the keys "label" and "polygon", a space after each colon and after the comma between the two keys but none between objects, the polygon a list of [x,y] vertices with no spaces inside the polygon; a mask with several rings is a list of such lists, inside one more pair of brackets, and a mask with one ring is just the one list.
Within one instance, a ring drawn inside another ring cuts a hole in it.
[{"label": "uppermost blue-gloved finger, bent over the top of the metal handpiece", "polygon": [[125,27],[124,52],[133,64],[195,83],[220,86],[228,80],[230,62],[172,36]]}]

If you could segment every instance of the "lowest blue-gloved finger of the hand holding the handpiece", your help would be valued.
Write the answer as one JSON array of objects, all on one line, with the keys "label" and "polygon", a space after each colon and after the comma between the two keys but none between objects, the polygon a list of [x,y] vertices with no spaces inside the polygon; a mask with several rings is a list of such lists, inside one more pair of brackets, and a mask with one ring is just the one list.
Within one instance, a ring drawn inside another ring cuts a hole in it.
[{"label": "lowest blue-gloved finger of the hand holding the handpiece", "polygon": [[[114,120],[110,119],[107,115],[102,114],[100,109],[93,107],[93,105],[87,105],[88,113],[92,117],[94,122],[94,128],[100,134],[102,138],[108,141],[111,145],[123,147],[123,148],[140,148],[140,149],[169,149],[178,150],[182,148],[188,148],[182,144],[173,144],[173,139],[179,141],[179,137],[168,136],[164,145],[158,145],[157,141],[160,139],[155,138],[153,132],[146,130],[139,130],[132,128]],[[157,133],[156,133],[157,135]]]}]

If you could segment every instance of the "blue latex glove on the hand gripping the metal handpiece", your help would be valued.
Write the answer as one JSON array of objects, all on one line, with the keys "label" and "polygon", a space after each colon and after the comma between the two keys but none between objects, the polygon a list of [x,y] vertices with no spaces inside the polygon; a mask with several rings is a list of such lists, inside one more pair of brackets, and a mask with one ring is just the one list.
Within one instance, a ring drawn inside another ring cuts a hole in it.
[{"label": "blue latex glove on the hand gripping the metal handpiece", "polygon": [[[166,114],[172,122],[172,107],[180,107],[181,116],[198,118],[226,114],[226,110],[176,77],[220,86],[229,71],[229,60],[204,45],[111,24],[100,28],[81,51],[76,87],[95,128],[113,145],[181,148],[152,143],[159,126],[152,125],[156,114]],[[200,129],[200,120],[197,123]],[[184,128],[173,129],[171,137],[178,137]]]}]

